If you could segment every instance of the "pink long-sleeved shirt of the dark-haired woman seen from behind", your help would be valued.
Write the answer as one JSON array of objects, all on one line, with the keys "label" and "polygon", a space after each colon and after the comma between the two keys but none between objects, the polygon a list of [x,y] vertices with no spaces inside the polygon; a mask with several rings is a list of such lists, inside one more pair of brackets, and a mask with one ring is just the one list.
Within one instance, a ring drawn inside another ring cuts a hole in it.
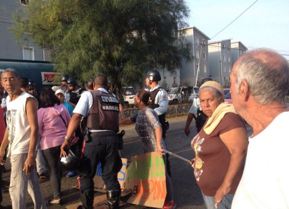
[{"label": "pink long-sleeved shirt of the dark-haired woman seen from behind", "polygon": [[37,116],[39,134],[41,136],[41,149],[61,145],[70,121],[70,114],[67,108],[62,104],[54,104],[53,107],[41,107],[37,110]]}]

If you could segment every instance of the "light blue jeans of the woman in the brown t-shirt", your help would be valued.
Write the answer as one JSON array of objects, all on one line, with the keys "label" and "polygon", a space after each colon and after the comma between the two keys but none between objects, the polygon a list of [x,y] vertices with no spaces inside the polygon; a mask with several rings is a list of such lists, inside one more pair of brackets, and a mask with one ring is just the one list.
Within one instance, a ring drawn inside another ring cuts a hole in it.
[{"label": "light blue jeans of the woman in the brown t-shirt", "polygon": [[[214,196],[206,196],[202,192],[202,197],[207,209],[215,209],[214,206]],[[221,202],[218,203],[218,209],[230,209],[234,194],[226,194]]]}]

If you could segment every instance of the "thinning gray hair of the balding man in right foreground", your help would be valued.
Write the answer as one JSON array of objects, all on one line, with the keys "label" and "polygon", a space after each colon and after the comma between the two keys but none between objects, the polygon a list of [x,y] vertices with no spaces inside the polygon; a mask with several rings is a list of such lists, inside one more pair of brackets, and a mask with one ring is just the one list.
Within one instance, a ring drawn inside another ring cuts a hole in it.
[{"label": "thinning gray hair of the balding man in right foreground", "polygon": [[244,53],[234,67],[236,94],[239,93],[241,81],[246,80],[250,94],[259,104],[272,101],[285,103],[289,88],[289,65],[282,55],[272,49],[258,48]]}]

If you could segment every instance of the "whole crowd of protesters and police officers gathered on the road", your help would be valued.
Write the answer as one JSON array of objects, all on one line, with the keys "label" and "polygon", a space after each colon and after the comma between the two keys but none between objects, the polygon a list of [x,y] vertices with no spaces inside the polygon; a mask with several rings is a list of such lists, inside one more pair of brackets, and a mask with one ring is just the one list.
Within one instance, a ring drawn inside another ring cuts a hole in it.
[{"label": "whole crowd of protesters and police officers gathered on the road", "polygon": [[[60,156],[68,158],[68,153],[74,153],[80,159],[78,172],[69,170],[67,176],[79,174],[82,205],[78,208],[93,208],[98,162],[109,208],[118,208],[121,188],[117,173],[122,162],[117,132],[119,124],[135,123],[143,152],[156,151],[165,164],[163,208],[175,208],[170,164],[164,152],[168,98],[160,79],[158,70],[149,70],[145,83],[150,90],[138,90],[134,96],[139,110],[128,118],[122,113],[119,120],[122,106],[109,92],[104,75],[88,81],[86,89],[75,78],[62,75],[60,86],[44,87],[38,94],[35,82],[19,78],[14,69],[5,69],[1,73],[0,177],[6,156],[10,157],[12,207],[25,208],[28,191],[35,208],[46,208],[37,172],[39,177],[49,176],[53,192],[49,203],[61,204]],[[234,63],[230,82],[233,104],[224,102],[220,83],[202,80],[184,126],[189,135],[190,123],[196,118],[191,166],[205,206],[289,208],[288,62],[271,49],[248,51]],[[249,137],[246,123],[253,129]]]}]

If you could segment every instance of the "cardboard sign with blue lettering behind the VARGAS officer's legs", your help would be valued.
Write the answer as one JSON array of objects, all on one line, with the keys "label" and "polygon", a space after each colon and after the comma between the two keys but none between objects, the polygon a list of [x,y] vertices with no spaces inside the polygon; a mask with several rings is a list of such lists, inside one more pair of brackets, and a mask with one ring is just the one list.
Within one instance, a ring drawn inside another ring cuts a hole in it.
[{"label": "cardboard sign with blue lettering behind the VARGAS officer's legs", "polygon": [[[122,161],[122,167],[120,169],[120,171],[117,173],[117,180],[120,184],[120,188],[123,187],[123,182],[125,179],[125,175],[126,175],[126,165],[127,165],[127,159],[125,158],[121,158]],[[96,191],[101,191],[101,192],[106,192],[105,190],[105,184],[101,178],[101,164],[100,162],[97,165],[97,170],[96,170],[96,174],[93,177],[93,181],[94,181],[94,190]]]}]

